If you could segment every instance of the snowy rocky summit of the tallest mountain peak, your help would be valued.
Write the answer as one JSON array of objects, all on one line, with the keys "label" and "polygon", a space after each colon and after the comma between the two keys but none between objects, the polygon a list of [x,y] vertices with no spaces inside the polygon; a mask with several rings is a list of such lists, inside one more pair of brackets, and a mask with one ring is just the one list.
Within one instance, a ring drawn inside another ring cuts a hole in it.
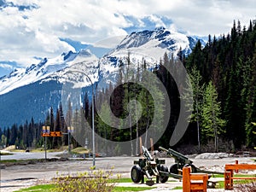
[{"label": "snowy rocky summit of the tallest mountain peak", "polygon": [[189,55],[195,43],[195,38],[160,27],[153,31],[132,32],[109,55],[122,57],[127,56],[129,52],[141,55],[142,58],[150,57],[159,61],[165,52],[170,56],[177,56],[179,49],[182,49],[185,55]]}]

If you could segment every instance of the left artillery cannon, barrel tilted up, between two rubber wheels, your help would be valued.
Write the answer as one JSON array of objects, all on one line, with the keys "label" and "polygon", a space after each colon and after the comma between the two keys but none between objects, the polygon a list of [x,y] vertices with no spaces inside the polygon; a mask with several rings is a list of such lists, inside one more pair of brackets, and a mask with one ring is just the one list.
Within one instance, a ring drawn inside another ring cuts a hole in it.
[{"label": "left artillery cannon, barrel tilted up, between two rubber wheels", "polygon": [[161,174],[161,172],[168,172],[168,168],[162,164],[166,163],[166,160],[158,160],[151,156],[147,148],[143,148],[143,159],[135,160],[134,166],[131,168],[131,180],[134,183],[144,183],[144,175],[148,177],[146,184],[153,185],[153,176],[156,177],[156,183],[166,183],[168,180],[167,174]]}]

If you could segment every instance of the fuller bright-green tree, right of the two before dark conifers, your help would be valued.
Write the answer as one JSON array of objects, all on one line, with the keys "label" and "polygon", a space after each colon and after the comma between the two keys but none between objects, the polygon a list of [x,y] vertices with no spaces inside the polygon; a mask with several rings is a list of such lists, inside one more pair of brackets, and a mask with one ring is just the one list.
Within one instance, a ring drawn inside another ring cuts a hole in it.
[{"label": "fuller bright-green tree, right of the two before dark conifers", "polygon": [[217,152],[218,136],[224,132],[225,120],[220,118],[220,102],[218,102],[218,94],[212,81],[207,85],[203,98],[201,132],[206,139],[214,138],[215,151]]}]

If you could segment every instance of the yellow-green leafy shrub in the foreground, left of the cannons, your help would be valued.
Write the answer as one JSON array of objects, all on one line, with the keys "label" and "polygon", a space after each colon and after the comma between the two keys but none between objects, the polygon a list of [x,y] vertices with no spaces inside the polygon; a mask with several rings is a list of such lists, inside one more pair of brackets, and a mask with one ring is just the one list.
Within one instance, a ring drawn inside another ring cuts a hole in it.
[{"label": "yellow-green leafy shrub in the foreground, left of the cannons", "polygon": [[62,175],[55,178],[55,189],[53,192],[110,192],[113,191],[115,183],[109,183],[112,172],[91,171],[77,173],[75,175]]}]

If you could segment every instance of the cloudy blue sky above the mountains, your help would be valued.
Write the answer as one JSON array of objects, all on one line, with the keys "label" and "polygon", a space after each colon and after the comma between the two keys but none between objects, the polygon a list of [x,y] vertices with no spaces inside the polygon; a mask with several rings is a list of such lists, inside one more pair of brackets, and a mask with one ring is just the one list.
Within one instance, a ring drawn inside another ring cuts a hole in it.
[{"label": "cloudy blue sky above the mountains", "polygon": [[109,49],[116,42],[104,39],[134,30],[218,36],[233,20],[247,26],[254,8],[254,0],[0,0],[0,76],[88,44]]}]

